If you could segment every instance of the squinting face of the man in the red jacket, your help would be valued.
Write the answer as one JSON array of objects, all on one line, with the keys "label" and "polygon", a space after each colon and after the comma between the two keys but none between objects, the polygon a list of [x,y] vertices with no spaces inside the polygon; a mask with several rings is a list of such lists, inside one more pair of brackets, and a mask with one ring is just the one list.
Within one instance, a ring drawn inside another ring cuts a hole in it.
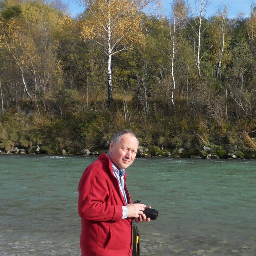
[{"label": "squinting face of the man in the red jacket", "polygon": [[138,149],[138,140],[131,133],[125,133],[120,141],[110,143],[109,157],[120,169],[125,169],[133,163]]}]

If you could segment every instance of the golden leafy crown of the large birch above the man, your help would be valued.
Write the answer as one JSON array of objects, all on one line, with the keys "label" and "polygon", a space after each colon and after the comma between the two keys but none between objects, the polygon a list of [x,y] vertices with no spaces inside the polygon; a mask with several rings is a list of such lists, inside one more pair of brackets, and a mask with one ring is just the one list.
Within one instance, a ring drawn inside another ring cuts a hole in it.
[{"label": "golden leafy crown of the large birch above the man", "polygon": [[145,42],[142,34],[142,18],[138,13],[140,1],[131,0],[96,0],[85,1],[89,17],[83,21],[81,35],[83,39],[105,41],[105,50],[108,42],[122,45],[134,45]]}]

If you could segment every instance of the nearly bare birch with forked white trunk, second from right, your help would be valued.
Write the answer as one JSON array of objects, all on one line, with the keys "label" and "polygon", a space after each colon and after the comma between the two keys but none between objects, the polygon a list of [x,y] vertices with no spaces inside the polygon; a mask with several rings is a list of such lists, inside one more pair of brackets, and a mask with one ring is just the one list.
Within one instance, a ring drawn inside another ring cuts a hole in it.
[{"label": "nearly bare birch with forked white trunk, second from right", "polygon": [[205,52],[201,53],[201,40],[202,34],[207,29],[206,27],[202,27],[203,21],[206,17],[207,8],[209,6],[209,0],[195,0],[195,8],[192,9],[191,5],[189,5],[189,9],[191,11],[192,18],[187,19],[188,24],[191,26],[193,30],[193,37],[190,38],[192,43],[192,47],[190,50],[193,54],[193,62],[198,69],[198,74],[201,77],[201,60],[205,56],[205,54],[212,48],[212,46],[207,49]]}]

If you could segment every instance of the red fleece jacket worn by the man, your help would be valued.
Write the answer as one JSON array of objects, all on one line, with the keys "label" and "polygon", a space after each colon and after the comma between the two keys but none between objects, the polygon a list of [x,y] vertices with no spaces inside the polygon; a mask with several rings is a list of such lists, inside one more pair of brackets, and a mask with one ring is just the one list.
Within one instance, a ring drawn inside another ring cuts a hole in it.
[{"label": "red fleece jacket worn by the man", "polygon": [[132,255],[132,219],[122,219],[124,205],[111,161],[103,153],[85,169],[78,186],[82,256]]}]

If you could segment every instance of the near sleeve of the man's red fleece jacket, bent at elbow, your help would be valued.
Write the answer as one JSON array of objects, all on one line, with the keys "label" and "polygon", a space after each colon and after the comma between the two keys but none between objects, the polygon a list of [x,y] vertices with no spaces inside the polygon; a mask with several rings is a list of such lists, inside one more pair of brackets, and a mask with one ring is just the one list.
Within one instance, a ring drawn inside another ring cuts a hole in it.
[{"label": "near sleeve of the man's red fleece jacket, bent at elbow", "polygon": [[122,206],[112,204],[109,199],[110,186],[96,172],[87,171],[82,175],[78,187],[78,214],[81,218],[91,221],[122,219]]}]

